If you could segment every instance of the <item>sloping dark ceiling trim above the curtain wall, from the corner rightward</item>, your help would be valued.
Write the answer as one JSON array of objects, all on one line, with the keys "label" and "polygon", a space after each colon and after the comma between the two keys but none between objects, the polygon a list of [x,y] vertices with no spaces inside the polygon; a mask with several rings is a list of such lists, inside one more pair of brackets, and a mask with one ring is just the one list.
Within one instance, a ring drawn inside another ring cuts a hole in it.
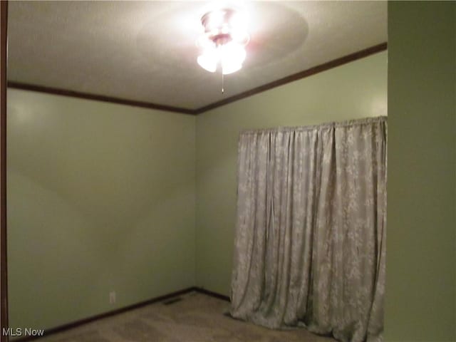
[{"label": "sloping dark ceiling trim above the curtain wall, from the corner rightward", "polygon": [[211,110],[211,109],[220,107],[222,105],[227,105],[228,103],[233,103],[234,101],[237,101],[237,100],[242,100],[244,98],[248,98],[249,96],[256,95],[258,93],[262,93],[262,92],[264,92],[266,90],[270,90],[272,88],[283,86],[286,83],[298,81],[298,80],[301,80],[301,78],[306,78],[306,77],[315,75],[316,73],[321,73],[321,72],[327,71],[331,68],[336,68],[343,64],[356,61],[357,59],[371,56],[374,53],[379,53],[381,51],[385,51],[387,48],[388,48],[388,43],[381,43],[381,44],[378,44],[375,46],[371,46],[370,48],[366,48],[364,50],[357,51],[355,53],[351,53],[350,55],[343,56],[341,58],[333,59],[333,61],[329,61],[329,62],[320,64],[318,66],[314,66],[313,68],[301,71],[299,73],[294,73],[293,75],[286,76],[284,78],[280,78],[279,80],[273,81],[271,83],[266,83],[263,86],[259,86],[257,88],[253,88],[251,90],[247,90],[244,93],[234,95],[230,98],[226,98],[224,100],[211,103],[210,105],[205,105],[204,107],[198,108],[196,110],[196,112],[197,112],[197,114],[204,113],[207,110]]}]

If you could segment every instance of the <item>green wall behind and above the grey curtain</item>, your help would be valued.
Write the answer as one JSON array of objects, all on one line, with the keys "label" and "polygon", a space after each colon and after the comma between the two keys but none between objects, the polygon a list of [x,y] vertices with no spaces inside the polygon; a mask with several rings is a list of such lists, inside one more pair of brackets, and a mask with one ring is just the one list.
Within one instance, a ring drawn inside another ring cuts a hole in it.
[{"label": "green wall behind and above the grey curtain", "polygon": [[387,58],[377,53],[197,116],[197,286],[229,294],[239,132],[386,115]]}]

